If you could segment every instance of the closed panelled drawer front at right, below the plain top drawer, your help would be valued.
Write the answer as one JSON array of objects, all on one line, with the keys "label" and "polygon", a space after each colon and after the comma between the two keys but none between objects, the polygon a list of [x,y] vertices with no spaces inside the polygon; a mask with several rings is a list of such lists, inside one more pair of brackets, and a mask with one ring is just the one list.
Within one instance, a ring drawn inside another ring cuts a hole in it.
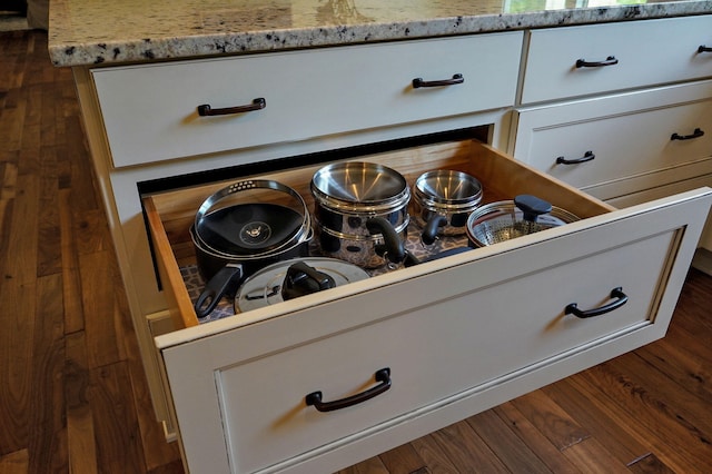
[{"label": "closed panelled drawer front at right, below the plain top drawer", "polygon": [[712,172],[711,150],[703,81],[522,110],[514,156],[607,199]]}]

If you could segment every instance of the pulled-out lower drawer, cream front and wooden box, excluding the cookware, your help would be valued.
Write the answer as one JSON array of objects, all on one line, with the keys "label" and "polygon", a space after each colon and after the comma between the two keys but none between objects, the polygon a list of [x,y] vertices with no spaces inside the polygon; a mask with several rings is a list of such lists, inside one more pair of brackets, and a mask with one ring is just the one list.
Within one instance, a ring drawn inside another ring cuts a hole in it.
[{"label": "pulled-out lower drawer, cream front and wooden box, excluding the cookware", "polygon": [[[186,235],[225,184],[147,197],[182,327],[156,344],[190,472],[333,472],[662,337],[712,203],[701,188],[616,210],[475,141],[362,159],[411,184],[459,169],[485,200],[533,194],[583,219],[198,325]],[[308,198],[317,168],[269,178]],[[364,401],[323,413],[314,392]]]}]

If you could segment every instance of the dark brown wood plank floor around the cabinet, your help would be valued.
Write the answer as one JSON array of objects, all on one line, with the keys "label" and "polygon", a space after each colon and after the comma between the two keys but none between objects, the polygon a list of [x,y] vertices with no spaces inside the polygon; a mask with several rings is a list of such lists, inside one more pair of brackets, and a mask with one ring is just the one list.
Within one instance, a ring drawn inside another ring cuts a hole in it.
[{"label": "dark brown wood plank floor around the cabinet", "polygon": [[[152,418],[71,73],[0,33],[0,474],[181,473]],[[665,339],[342,473],[712,472],[712,277]],[[199,473],[202,474],[202,473]]]}]

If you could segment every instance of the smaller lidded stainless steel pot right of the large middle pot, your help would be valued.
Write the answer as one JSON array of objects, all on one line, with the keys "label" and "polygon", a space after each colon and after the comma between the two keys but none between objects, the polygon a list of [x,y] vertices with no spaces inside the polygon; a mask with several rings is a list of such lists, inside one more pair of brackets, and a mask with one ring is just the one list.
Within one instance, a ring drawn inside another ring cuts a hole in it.
[{"label": "smaller lidded stainless steel pot right of the large middle pot", "polygon": [[438,235],[465,234],[467,217],[479,206],[482,194],[482,184],[463,171],[437,169],[421,175],[413,185],[413,208],[423,243],[431,245]]}]

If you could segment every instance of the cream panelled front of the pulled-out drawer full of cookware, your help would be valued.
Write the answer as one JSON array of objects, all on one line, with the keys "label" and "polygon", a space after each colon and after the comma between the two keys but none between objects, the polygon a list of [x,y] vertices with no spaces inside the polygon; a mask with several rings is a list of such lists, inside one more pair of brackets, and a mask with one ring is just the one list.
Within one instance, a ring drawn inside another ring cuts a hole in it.
[{"label": "cream panelled front of the pulled-out drawer full of cookware", "polygon": [[[185,342],[162,354],[190,471],[307,463],[298,467],[309,472],[310,458],[378,429],[408,422],[400,429],[417,436],[428,407],[662,337],[710,201],[696,195],[617,211],[500,246],[506,251],[473,250],[353,284],[350,296],[329,303],[312,295],[305,310],[274,306],[281,316],[257,324],[182,332]],[[571,303],[610,304],[617,286],[625,305],[586,319],[564,314]],[[369,388],[384,367],[393,386],[375,398],[329,413],[305,405],[314,391],[332,401]],[[554,373],[548,382],[563,376]]]}]

